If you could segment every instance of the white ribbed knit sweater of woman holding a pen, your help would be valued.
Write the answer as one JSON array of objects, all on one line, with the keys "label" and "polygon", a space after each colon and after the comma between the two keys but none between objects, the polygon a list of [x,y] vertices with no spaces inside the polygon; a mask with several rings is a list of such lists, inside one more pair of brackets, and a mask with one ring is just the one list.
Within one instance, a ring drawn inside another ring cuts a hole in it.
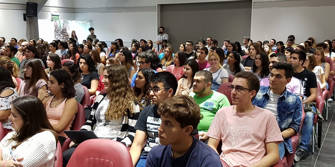
[{"label": "white ribbed knit sweater of woman holding a pen", "polygon": [[[17,142],[8,140],[13,138],[16,131],[8,133],[0,143],[2,159],[12,160],[9,148]],[[50,131],[38,133],[27,139],[13,150],[15,158],[23,157],[21,163],[24,167],[54,167],[56,153],[56,139]],[[62,157],[59,157],[62,158]]]}]

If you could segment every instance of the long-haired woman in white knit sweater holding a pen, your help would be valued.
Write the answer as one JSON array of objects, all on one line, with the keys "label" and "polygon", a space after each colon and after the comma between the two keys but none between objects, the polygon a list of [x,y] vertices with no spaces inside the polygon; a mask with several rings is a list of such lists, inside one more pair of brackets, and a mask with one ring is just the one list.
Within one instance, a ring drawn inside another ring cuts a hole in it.
[{"label": "long-haired woman in white knit sweater holding a pen", "polygon": [[[34,96],[15,99],[8,119],[14,131],[1,140],[0,166],[53,167],[58,136],[41,100]],[[12,160],[9,149],[18,162]]]}]

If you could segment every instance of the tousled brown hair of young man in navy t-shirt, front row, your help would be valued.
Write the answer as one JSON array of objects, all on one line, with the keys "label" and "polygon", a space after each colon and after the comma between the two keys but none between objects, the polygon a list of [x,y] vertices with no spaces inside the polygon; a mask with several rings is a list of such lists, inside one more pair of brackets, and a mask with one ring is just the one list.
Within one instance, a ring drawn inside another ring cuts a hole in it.
[{"label": "tousled brown hair of young man in navy t-shirt, front row", "polygon": [[199,105],[195,103],[192,97],[186,95],[172,97],[160,103],[158,114],[161,117],[175,118],[180,123],[181,128],[191,125],[193,127],[193,131],[190,132],[191,136],[203,118]]}]

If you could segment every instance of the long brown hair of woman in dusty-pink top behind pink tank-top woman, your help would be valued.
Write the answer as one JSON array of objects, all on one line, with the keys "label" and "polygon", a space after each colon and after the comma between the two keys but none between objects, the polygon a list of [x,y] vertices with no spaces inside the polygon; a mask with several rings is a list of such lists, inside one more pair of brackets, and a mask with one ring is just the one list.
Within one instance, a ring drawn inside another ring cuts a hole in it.
[{"label": "long brown hair of woman in dusty-pink top behind pink tank-top woman", "polygon": [[25,64],[32,68],[32,73],[31,73],[30,77],[26,76],[25,73],[24,73],[24,76],[23,76],[24,79],[29,79],[29,84],[28,84],[29,89],[27,90],[27,92],[29,92],[29,90],[32,90],[32,92],[35,92],[36,91],[36,83],[40,79],[43,79],[47,82],[49,80],[49,77],[48,77],[47,73],[45,72],[45,70],[43,69],[42,63],[39,59],[31,58],[31,59],[27,60],[25,62]]}]

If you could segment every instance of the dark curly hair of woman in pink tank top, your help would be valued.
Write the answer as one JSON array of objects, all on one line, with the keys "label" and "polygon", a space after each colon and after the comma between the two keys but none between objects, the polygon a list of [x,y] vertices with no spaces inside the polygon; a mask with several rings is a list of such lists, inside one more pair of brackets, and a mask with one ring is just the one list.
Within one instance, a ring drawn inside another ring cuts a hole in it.
[{"label": "dark curly hair of woman in pink tank top", "polygon": [[54,76],[58,82],[58,85],[64,83],[64,88],[62,89],[62,97],[70,99],[76,96],[76,91],[74,90],[74,85],[70,74],[64,69],[59,69],[52,71],[50,76]]}]

